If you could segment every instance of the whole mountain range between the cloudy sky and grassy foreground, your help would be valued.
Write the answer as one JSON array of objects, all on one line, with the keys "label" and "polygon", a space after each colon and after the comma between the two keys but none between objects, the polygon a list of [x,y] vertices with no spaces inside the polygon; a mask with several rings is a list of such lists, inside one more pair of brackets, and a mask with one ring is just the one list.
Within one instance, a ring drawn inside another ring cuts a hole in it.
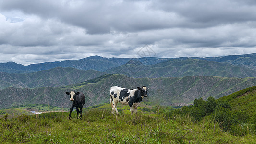
[{"label": "whole mountain range between the cloudy sky and grassy foreground", "polygon": [[207,58],[87,57],[23,66],[0,63],[0,108],[49,104],[67,108],[64,92],[81,91],[85,106],[109,102],[109,88],[147,86],[162,105],[219,98],[256,85],[256,54]]}]

